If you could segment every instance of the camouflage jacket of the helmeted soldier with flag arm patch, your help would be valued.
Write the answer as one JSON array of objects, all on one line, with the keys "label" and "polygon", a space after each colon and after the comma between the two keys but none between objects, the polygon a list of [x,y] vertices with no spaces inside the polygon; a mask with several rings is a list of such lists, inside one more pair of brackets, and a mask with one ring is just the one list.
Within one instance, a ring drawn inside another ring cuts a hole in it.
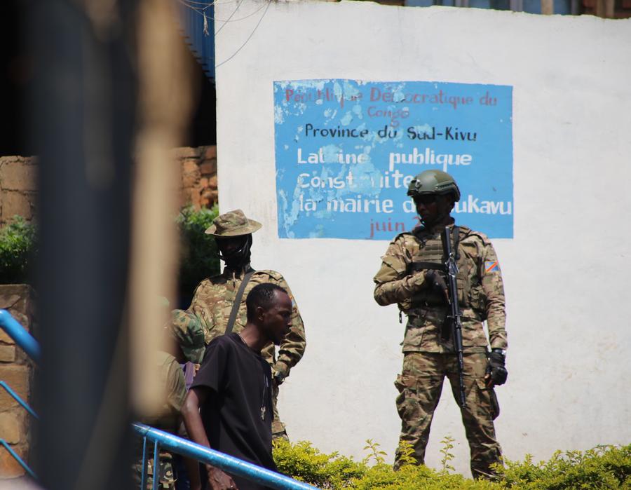
[{"label": "camouflage jacket of the helmeted soldier with flag arm patch", "polygon": [[[460,226],[457,264],[458,301],[462,312],[463,348],[481,352],[487,347],[482,322],[487,322],[491,348],[508,346],[502,275],[487,236]],[[390,243],[374,276],[374,299],[382,306],[397,303],[408,315],[403,352],[450,353],[452,339],[441,339],[447,305],[424,281],[424,270],[412,272],[413,262],[442,262],[440,232],[417,228]]]}]

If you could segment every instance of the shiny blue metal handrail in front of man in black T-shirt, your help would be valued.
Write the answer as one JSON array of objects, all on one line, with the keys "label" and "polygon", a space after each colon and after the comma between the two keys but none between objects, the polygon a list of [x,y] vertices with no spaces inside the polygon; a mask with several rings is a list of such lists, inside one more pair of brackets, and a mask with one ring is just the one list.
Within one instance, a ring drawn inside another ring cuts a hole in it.
[{"label": "shiny blue metal handrail in front of man in black T-shirt", "polygon": [[[154,429],[149,426],[145,426],[142,423],[133,423],[132,426],[135,433],[140,435],[140,437],[143,437],[142,489],[144,489],[144,468],[146,467],[147,440],[149,440],[154,442],[154,468],[158,467],[158,463],[156,463],[158,458],[156,455],[158,454],[159,446],[161,448],[168,449],[168,451],[173,453],[188,456],[189,458],[194,458],[197,461],[201,461],[202,463],[207,463],[212,466],[217,466],[217,468],[221,468],[233,475],[247,478],[252,482],[257,482],[273,489],[315,490],[315,486],[299,482],[293,478],[280,475],[280,473],[267,470],[266,468],[261,468],[260,466],[252,463],[247,463],[247,461],[242,461],[233,456],[215,451],[214,449],[209,449],[208,447],[201,446],[200,444],[182,439],[182,437],[177,437],[177,435],[164,432],[163,430]],[[156,478],[155,473],[156,470],[154,469],[154,489],[157,488],[158,482],[158,478]]]}]

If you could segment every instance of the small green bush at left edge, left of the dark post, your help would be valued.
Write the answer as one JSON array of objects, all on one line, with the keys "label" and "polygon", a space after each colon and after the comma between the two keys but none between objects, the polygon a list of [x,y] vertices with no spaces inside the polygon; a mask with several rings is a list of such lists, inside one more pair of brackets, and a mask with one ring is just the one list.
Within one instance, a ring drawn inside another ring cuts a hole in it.
[{"label": "small green bush at left edge, left of the dark post", "polygon": [[37,253],[34,224],[18,215],[0,229],[0,284],[30,283],[29,272]]}]

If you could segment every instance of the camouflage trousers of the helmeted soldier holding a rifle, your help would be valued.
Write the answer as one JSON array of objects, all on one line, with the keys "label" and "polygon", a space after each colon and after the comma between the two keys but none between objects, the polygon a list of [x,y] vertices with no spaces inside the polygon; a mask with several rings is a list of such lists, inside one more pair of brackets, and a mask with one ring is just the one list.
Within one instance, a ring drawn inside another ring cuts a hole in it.
[{"label": "camouflage trousers of the helmeted soldier holding a rifle", "polygon": [[[491,477],[491,463],[501,463],[501,447],[495,437],[494,419],[499,407],[494,390],[484,385],[487,357],[485,353],[463,356],[463,383],[466,408],[461,409],[471,451],[471,473],[474,478]],[[403,371],[395,386],[399,390],[397,410],[401,418],[400,443],[411,444],[412,457],[423,464],[430,425],[440,399],[443,379],[449,379],[454,399],[460,398],[458,361],[455,354],[406,353]],[[395,456],[395,468],[400,466]]]}]

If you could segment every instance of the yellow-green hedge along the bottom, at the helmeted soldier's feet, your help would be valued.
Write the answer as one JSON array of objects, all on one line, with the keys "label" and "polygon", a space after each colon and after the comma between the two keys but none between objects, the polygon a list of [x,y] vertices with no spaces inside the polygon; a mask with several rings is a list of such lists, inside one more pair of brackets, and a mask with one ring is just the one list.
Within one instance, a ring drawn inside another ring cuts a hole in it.
[{"label": "yellow-green hedge along the bottom, at the helmeted soldier's feet", "polygon": [[404,465],[394,471],[384,462],[385,453],[379,451],[379,444],[370,440],[365,447],[369,456],[361,462],[337,452],[323,454],[309,442],[290,444],[279,440],[274,443],[273,454],[280,472],[321,489],[631,489],[631,444],[564,454],[557,451],[549,461],[538,464],[532,463],[530,456],[523,462],[506,461],[505,468],[498,468],[498,478],[489,482],[449,474],[453,458],[450,441],[449,437],[442,441],[440,471],[413,465],[406,448],[402,449]]}]

